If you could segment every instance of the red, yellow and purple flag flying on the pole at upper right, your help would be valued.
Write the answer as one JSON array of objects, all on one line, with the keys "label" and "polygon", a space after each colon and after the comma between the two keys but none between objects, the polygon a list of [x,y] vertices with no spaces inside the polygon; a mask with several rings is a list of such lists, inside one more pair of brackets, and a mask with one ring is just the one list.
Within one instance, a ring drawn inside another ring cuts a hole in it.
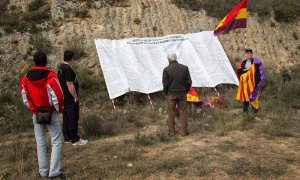
[{"label": "red, yellow and purple flag flying on the pole at upper right", "polygon": [[226,17],[220,22],[214,31],[215,36],[220,36],[230,30],[247,27],[247,0],[238,4]]}]

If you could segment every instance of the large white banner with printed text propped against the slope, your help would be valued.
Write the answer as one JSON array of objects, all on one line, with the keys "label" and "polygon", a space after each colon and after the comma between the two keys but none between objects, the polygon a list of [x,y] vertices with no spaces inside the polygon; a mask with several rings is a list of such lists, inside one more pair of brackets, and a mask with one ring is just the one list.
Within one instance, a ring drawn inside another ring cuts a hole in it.
[{"label": "large white banner with printed text propped against the slope", "polygon": [[95,43],[111,99],[129,91],[161,91],[169,53],[176,53],[178,62],[189,67],[193,87],[238,85],[228,57],[212,31],[157,38],[96,39]]}]

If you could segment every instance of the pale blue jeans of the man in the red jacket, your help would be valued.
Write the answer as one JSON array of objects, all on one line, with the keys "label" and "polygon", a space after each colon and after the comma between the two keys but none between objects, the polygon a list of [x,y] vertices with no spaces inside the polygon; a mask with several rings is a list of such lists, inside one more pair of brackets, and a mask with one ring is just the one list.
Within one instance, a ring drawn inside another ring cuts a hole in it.
[{"label": "pale blue jeans of the man in the red jacket", "polygon": [[[32,116],[34,124],[34,134],[37,145],[37,156],[39,162],[39,173],[42,177],[53,177],[59,175],[60,172],[60,154],[62,147],[61,140],[61,129],[59,126],[59,113],[52,112],[51,123],[48,125],[37,124],[36,116]],[[46,159],[47,144],[46,144],[46,126],[51,137],[51,160],[50,160],[50,170]]]}]

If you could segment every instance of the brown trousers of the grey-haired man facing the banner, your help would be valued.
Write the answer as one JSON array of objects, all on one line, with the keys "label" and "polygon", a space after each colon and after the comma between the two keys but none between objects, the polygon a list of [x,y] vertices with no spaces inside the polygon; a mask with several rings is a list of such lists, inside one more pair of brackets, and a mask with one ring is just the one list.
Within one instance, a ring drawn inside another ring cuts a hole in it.
[{"label": "brown trousers of the grey-haired man facing the banner", "polygon": [[187,122],[186,94],[168,93],[167,103],[168,103],[167,125],[169,127],[169,134],[174,135],[176,132],[175,131],[175,111],[176,111],[176,104],[177,104],[178,111],[179,111],[180,134],[183,136],[187,135],[188,122]]}]

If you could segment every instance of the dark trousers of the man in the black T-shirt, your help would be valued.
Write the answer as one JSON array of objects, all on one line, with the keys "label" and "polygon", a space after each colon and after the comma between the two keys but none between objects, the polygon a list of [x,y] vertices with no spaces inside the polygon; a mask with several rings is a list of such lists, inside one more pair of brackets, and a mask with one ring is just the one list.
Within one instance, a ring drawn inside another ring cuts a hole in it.
[{"label": "dark trousers of the man in the black T-shirt", "polygon": [[65,101],[63,111],[63,134],[65,141],[77,142],[79,120],[79,102]]}]

